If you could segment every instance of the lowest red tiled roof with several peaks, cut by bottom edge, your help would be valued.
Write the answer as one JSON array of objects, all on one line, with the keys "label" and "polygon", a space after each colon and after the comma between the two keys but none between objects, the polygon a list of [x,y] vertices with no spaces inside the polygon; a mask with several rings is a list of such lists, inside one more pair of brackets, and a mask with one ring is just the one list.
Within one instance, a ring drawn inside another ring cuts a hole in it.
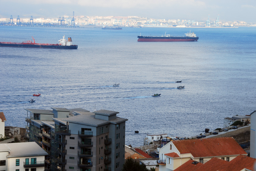
[{"label": "lowest red tiled roof with several peaks, cut by bottom edge", "polygon": [[231,161],[213,157],[205,164],[195,160],[188,160],[174,171],[250,171],[254,170],[255,161],[255,158],[244,155],[239,155]]}]

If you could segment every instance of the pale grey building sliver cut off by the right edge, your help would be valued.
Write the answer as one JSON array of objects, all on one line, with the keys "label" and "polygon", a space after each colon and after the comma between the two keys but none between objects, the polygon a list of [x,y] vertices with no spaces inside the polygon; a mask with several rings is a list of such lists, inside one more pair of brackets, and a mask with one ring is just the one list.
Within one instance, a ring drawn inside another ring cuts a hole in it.
[{"label": "pale grey building sliver cut off by the right edge", "polygon": [[250,157],[256,158],[256,110],[251,114]]}]

